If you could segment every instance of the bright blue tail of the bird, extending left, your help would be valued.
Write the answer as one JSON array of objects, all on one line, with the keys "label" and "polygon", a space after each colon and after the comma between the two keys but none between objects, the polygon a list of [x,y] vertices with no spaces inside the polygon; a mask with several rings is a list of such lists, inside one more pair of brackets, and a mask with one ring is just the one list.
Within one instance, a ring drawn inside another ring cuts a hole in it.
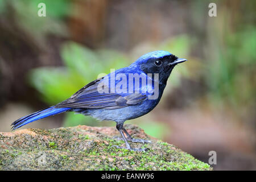
[{"label": "bright blue tail of the bird, extending left", "polygon": [[30,115],[26,115],[22,118],[17,119],[14,121],[11,125],[13,127],[11,129],[15,130],[18,129],[19,127],[22,127],[23,125],[27,125],[27,123],[31,123],[33,121],[46,118],[50,115],[55,115],[59,113],[63,113],[65,111],[70,110],[70,108],[55,108],[55,106],[47,107],[46,109],[36,111],[35,113],[32,113]]}]

